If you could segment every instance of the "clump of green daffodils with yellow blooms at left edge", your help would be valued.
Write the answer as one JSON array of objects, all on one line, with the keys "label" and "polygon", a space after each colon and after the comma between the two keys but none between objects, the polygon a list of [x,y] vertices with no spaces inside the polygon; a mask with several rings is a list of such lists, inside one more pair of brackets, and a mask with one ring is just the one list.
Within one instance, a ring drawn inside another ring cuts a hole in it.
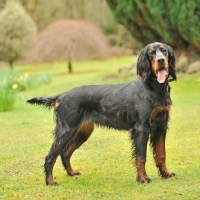
[{"label": "clump of green daffodils with yellow blooms at left edge", "polygon": [[19,91],[51,82],[49,74],[30,75],[16,71],[0,73],[0,112],[12,110]]}]

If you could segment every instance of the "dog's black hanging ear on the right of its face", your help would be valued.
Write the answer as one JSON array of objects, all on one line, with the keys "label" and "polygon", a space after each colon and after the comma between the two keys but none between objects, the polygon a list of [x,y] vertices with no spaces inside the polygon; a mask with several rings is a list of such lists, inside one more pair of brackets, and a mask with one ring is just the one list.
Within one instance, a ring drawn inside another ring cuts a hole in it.
[{"label": "dog's black hanging ear on the right of its face", "polygon": [[172,47],[167,46],[168,47],[168,57],[169,57],[169,76],[172,77],[172,80],[176,80],[176,68],[175,68],[175,64],[176,64],[176,59],[174,56],[174,51],[172,49]]}]

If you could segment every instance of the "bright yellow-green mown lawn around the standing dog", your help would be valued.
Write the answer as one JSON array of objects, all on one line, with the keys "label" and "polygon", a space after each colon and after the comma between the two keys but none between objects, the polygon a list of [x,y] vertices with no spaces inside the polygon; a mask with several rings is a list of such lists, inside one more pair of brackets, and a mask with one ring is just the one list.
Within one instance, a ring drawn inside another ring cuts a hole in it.
[{"label": "bright yellow-green mown lawn around the standing dog", "polygon": [[[118,68],[134,57],[18,67],[19,71],[48,72],[52,83],[22,92],[13,111],[0,113],[0,199],[200,199],[200,74],[178,75],[171,83],[173,109],[167,134],[167,165],[176,176],[158,176],[150,149],[146,169],[150,184],[138,184],[131,159],[129,134],[96,127],[90,139],[72,157],[81,176],[69,177],[60,158],[54,167],[59,186],[46,186],[43,164],[54,129],[53,111],[26,104],[34,96],[50,96],[87,84],[120,83]],[[114,76],[113,76],[114,75]]]}]

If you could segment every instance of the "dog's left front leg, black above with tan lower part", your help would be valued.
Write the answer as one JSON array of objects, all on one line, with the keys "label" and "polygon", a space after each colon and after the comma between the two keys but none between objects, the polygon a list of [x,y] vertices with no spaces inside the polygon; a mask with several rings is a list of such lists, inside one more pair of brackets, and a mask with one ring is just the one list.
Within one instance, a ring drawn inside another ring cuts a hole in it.
[{"label": "dog's left front leg, black above with tan lower part", "polygon": [[131,140],[133,141],[133,158],[135,159],[135,166],[137,168],[137,181],[140,183],[150,183],[151,179],[148,178],[145,164],[146,164],[146,151],[149,132],[141,128],[131,129]]}]

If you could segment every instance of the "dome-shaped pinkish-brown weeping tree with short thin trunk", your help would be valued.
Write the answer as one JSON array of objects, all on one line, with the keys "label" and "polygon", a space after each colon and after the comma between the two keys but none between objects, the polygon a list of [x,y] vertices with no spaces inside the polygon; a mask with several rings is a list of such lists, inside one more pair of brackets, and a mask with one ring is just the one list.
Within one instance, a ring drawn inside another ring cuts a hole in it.
[{"label": "dome-shaped pinkish-brown weeping tree with short thin trunk", "polygon": [[95,24],[84,20],[59,20],[39,32],[25,61],[67,61],[71,73],[75,60],[105,59],[116,53]]}]

